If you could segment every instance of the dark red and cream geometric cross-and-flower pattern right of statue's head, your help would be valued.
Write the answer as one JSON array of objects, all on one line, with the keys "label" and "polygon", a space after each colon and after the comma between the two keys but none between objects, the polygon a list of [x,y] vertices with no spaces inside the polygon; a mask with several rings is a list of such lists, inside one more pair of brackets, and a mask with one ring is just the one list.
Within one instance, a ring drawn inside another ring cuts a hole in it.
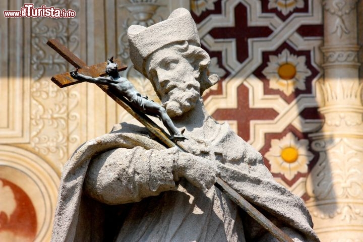
[{"label": "dark red and cream geometric cross-and-flower pattern right of statue's head", "polygon": [[[191,12],[202,47],[217,57],[217,66],[225,71],[204,95],[208,111],[216,120],[233,124],[237,134],[264,155],[276,180],[306,199],[303,185],[317,159],[308,134],[322,123],[315,88],[322,76],[321,4],[309,0],[287,1],[288,5],[283,4],[286,1],[205,2],[210,2],[208,8],[196,10],[192,5]],[[288,138],[305,148],[271,147]],[[266,157],[269,150],[280,156],[276,159],[290,157],[290,163],[272,167],[275,163]],[[309,157],[302,159],[306,154]],[[301,166],[294,163],[302,160]]]}]

